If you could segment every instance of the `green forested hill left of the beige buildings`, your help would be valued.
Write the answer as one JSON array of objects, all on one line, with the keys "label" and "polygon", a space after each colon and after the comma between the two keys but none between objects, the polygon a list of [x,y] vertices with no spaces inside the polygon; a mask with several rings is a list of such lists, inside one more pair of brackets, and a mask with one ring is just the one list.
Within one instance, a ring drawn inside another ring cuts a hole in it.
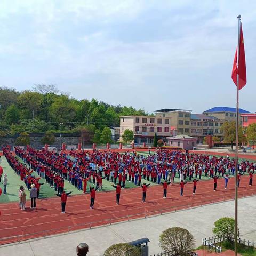
[{"label": "green forested hill left of the beige buildings", "polygon": [[76,132],[90,127],[119,126],[119,116],[149,115],[144,109],[113,106],[92,99],[77,100],[60,93],[55,85],[37,84],[18,92],[0,87],[0,135],[21,132]]}]

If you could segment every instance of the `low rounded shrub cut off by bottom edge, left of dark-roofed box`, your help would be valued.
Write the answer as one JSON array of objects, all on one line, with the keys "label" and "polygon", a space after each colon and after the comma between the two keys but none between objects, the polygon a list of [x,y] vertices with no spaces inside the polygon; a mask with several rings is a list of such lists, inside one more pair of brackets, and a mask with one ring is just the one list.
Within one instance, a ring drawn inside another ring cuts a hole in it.
[{"label": "low rounded shrub cut off by bottom edge, left of dark-roofed box", "polygon": [[114,244],[110,246],[103,256],[140,256],[140,249],[129,244]]}]

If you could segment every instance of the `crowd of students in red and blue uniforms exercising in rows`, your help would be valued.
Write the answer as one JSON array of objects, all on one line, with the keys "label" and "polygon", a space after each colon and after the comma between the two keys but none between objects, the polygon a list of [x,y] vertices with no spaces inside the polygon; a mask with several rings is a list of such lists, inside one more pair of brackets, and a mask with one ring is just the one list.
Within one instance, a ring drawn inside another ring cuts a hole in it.
[{"label": "crowd of students in red and blue uniforms exercising in rows", "polygon": [[[158,150],[157,154],[145,156],[137,154],[136,151],[132,153],[127,151],[122,154],[110,150],[103,152],[93,150],[92,152],[70,151],[67,155],[62,152],[53,153],[33,148],[25,151],[16,147],[15,154],[26,164],[20,163],[7,148],[3,148],[3,153],[15,173],[25,181],[28,189],[31,184],[35,185],[38,191],[37,198],[40,186],[43,185],[39,183],[40,178],[45,178],[46,183],[54,188],[60,197],[65,187],[64,180],[84,193],[86,193],[87,182],[90,181],[95,185],[95,188],[90,187],[91,209],[93,209],[96,191],[102,189],[102,179],[113,183],[117,194],[116,203],[119,204],[121,188],[125,188],[126,182],[142,187],[142,202],[145,202],[147,187],[150,184],[147,181],[161,184],[164,190],[163,197],[166,198],[167,185],[173,185],[175,179],[180,183],[180,195],[183,196],[187,180],[193,182],[193,194],[195,194],[197,182],[202,179],[202,175],[213,178],[213,190],[215,191],[219,177],[225,179],[227,189],[229,175],[235,173],[234,159],[185,154],[180,151]],[[250,175],[249,185],[252,185],[255,169],[256,164],[253,162],[238,163],[238,186],[241,175],[246,172]],[[39,178],[33,175],[33,170],[37,172]],[[63,198],[67,199],[66,196]]]}]

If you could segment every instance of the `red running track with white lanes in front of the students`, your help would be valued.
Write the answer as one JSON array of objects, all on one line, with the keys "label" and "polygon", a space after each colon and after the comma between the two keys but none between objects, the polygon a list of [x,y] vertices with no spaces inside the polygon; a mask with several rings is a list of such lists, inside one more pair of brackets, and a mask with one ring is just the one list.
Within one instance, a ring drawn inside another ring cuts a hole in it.
[{"label": "red running track with white lanes in front of the students", "polygon": [[[192,183],[188,183],[185,185],[183,197],[180,196],[178,184],[168,186],[166,199],[163,198],[162,186],[149,186],[145,203],[141,202],[141,188],[122,189],[120,205],[116,205],[115,191],[97,191],[92,210],[89,207],[89,194],[69,196],[65,214],[61,213],[59,197],[38,199],[37,208],[27,208],[26,211],[20,210],[18,203],[0,204],[0,244],[100,226],[110,223],[110,219],[113,223],[234,199],[234,181],[234,178],[231,178],[228,189],[225,190],[224,181],[220,179],[217,191],[213,191],[213,180],[198,182],[196,195],[192,194]],[[249,177],[243,176],[238,191],[239,197],[254,194],[256,185],[250,187]],[[29,203],[27,202],[27,207]]]}]

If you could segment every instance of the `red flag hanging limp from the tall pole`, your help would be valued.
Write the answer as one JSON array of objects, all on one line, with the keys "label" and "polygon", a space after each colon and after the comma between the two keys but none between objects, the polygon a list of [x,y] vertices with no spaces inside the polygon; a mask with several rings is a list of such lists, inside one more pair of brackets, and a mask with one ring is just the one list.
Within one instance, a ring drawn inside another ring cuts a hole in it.
[{"label": "red flag hanging limp from the tall pole", "polygon": [[236,54],[233,63],[232,69],[232,79],[237,86],[237,78],[236,75],[239,75],[239,84],[238,90],[242,89],[246,85],[246,65],[245,65],[245,52],[244,52],[244,37],[243,37],[243,30],[242,30],[242,23],[240,27],[240,43],[239,43],[239,65],[237,69],[237,47],[236,47]]}]

